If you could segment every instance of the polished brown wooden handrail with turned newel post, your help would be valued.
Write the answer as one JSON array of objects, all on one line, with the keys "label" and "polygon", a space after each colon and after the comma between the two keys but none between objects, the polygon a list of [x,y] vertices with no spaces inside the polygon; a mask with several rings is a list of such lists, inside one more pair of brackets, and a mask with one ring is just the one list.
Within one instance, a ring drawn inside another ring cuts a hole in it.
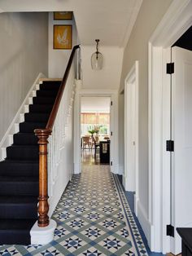
[{"label": "polished brown wooden handrail with turned newel post", "polygon": [[35,135],[38,137],[39,144],[39,196],[38,196],[38,227],[46,227],[49,225],[50,220],[48,216],[49,204],[48,204],[48,189],[47,189],[47,143],[48,138],[52,133],[52,129],[55,123],[55,118],[57,116],[59,110],[59,104],[63,96],[63,91],[68,80],[68,74],[70,72],[70,68],[72,66],[72,60],[74,58],[76,49],[80,46],[74,46],[72,48],[72,53],[68,60],[68,65],[65,70],[63,80],[61,82],[61,86],[59,87],[59,91],[57,97],[55,99],[55,104],[50,113],[50,118],[46,124],[45,129],[36,129],[34,130]]}]

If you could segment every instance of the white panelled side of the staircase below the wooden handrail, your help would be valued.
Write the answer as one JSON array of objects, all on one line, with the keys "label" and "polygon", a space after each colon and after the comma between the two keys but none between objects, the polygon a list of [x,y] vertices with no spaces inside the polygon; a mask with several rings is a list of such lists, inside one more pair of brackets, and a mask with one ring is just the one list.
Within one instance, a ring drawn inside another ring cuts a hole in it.
[{"label": "white panelled side of the staircase below the wooden handrail", "polygon": [[75,64],[73,62],[63,91],[52,135],[48,144],[48,194],[50,210],[55,210],[64,188],[73,174],[73,101],[75,97]]}]

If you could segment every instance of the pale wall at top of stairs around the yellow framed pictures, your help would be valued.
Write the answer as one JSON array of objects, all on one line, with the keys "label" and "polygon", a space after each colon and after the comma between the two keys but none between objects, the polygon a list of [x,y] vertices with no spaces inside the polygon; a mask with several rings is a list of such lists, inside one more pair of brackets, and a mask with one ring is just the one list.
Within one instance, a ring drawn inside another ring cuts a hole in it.
[{"label": "pale wall at top of stairs around the yellow framed pictures", "polygon": [[49,13],[49,77],[63,78],[72,50],[56,50],[53,48],[54,24],[72,24],[72,46],[77,44],[75,20],[54,20],[53,12]]}]

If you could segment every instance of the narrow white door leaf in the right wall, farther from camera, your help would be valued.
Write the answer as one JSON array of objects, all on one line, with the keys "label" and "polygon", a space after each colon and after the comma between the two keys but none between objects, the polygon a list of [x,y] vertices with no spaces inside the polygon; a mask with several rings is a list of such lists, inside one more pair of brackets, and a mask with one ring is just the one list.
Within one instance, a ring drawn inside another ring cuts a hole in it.
[{"label": "narrow white door leaf in the right wall, farther from camera", "polygon": [[124,187],[136,190],[135,170],[135,84],[124,87]]}]

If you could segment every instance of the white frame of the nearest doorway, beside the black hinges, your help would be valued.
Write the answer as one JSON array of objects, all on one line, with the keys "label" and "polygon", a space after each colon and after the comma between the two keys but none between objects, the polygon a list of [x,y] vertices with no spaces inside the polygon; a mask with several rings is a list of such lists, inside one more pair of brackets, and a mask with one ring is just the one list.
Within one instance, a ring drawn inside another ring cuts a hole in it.
[{"label": "white frame of the nearest doorway, beside the black hinges", "polygon": [[172,238],[166,236],[170,221],[168,183],[170,157],[165,151],[169,139],[169,77],[166,63],[170,62],[170,47],[192,23],[192,2],[174,0],[148,42],[148,109],[149,109],[149,221],[152,251],[172,251]]}]

